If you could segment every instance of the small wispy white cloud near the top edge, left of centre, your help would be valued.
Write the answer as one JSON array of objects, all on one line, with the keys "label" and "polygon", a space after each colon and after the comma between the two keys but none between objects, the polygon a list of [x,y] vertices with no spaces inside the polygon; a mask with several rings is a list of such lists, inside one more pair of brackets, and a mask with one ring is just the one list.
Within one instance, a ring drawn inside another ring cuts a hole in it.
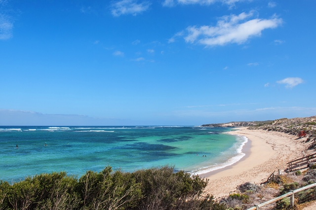
[{"label": "small wispy white cloud near the top edge, left of centre", "polygon": [[116,17],[127,14],[137,15],[148,10],[149,6],[148,1],[137,3],[137,0],[120,0],[112,4],[111,12]]}]

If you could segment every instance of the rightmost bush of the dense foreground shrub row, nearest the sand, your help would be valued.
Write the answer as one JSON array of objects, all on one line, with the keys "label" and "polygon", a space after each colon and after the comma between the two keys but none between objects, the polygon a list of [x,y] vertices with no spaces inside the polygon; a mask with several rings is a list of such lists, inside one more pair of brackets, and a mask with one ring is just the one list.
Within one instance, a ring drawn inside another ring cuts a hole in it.
[{"label": "rightmost bush of the dense foreground shrub row, nearest the sand", "polygon": [[139,209],[173,210],[202,209],[214,206],[211,197],[200,199],[208,180],[183,171],[174,173],[173,167],[152,168],[132,173],[141,183],[144,198]]}]

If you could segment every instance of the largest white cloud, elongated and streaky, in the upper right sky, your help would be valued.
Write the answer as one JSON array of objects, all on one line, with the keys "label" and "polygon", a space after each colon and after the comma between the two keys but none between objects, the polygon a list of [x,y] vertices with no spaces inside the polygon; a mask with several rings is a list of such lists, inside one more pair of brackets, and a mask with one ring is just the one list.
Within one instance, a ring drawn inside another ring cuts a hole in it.
[{"label": "largest white cloud, elongated and streaky, in the upper right sky", "polygon": [[[223,16],[216,26],[189,26],[184,32],[184,39],[188,43],[200,43],[205,46],[225,45],[228,43],[241,44],[253,36],[260,36],[265,29],[273,29],[282,23],[281,18],[254,18],[254,11],[239,15]],[[250,19],[250,20],[249,20]]]}]

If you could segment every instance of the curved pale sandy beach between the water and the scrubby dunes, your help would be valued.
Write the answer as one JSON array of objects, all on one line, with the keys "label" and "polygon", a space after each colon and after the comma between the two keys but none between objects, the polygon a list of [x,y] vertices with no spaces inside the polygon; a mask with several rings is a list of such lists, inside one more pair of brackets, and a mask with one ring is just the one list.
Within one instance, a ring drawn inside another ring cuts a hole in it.
[{"label": "curved pale sandy beach between the water and the scrubby dunes", "polygon": [[273,172],[284,171],[287,162],[305,155],[303,139],[296,136],[244,127],[230,134],[248,138],[242,150],[246,155],[232,166],[201,175],[209,179],[206,192],[216,198],[229,195],[247,181],[260,184]]}]

